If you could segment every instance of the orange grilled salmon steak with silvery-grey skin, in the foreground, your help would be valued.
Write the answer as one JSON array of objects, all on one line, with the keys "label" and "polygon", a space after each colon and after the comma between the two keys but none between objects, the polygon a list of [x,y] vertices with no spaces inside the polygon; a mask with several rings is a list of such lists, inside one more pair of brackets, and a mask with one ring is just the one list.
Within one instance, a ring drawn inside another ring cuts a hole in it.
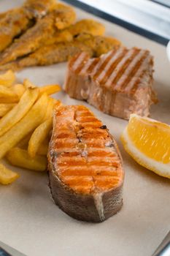
[{"label": "orange grilled salmon steak with silvery-grey skin, in the foreground", "polygon": [[55,109],[48,169],[53,200],[75,219],[103,222],[123,205],[119,149],[85,106]]}]

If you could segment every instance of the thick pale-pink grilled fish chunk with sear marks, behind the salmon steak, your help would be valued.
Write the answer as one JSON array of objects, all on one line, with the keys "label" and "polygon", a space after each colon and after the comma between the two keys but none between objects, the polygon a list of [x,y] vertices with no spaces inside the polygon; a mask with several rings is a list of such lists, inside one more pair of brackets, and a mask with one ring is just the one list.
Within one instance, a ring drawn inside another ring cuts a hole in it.
[{"label": "thick pale-pink grilled fish chunk with sear marks, behind the salmon steak", "polygon": [[113,48],[93,59],[80,53],[69,61],[64,89],[111,116],[149,116],[150,105],[157,102],[152,66],[149,50],[139,48]]}]

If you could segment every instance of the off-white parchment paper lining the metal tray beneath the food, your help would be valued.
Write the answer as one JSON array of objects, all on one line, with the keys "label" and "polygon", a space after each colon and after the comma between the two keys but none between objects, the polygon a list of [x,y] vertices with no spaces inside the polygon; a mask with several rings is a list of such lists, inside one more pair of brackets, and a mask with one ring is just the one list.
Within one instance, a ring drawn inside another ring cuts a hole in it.
[{"label": "off-white parchment paper lining the metal tray beneath the food", "polygon": [[[7,10],[22,1],[1,0],[0,10]],[[78,18],[96,18],[77,9]],[[96,18],[105,24],[107,34],[128,47],[147,48],[155,56],[155,89],[159,103],[152,106],[151,116],[170,122],[170,65],[166,48],[131,33],[120,26]],[[18,73],[37,85],[63,84],[66,64],[34,67]],[[57,94],[66,104],[83,103]],[[84,103],[85,105],[88,105]],[[48,188],[47,173],[13,168],[20,178],[10,186],[0,186],[0,241],[34,256],[150,256],[169,231],[170,181],[161,178],[134,162],[120,143],[120,134],[128,123],[107,116],[88,105],[115,136],[123,155],[125,184],[123,208],[101,224],[79,222],[55,206]]]}]

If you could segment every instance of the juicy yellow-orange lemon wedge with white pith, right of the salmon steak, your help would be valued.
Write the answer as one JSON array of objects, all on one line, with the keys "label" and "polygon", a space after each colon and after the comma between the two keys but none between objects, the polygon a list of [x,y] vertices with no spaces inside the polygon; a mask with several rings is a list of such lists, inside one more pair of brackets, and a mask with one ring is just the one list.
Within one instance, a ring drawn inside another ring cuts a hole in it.
[{"label": "juicy yellow-orange lemon wedge with white pith, right of the salmon steak", "polygon": [[151,118],[131,114],[121,135],[125,151],[139,165],[170,178],[170,126]]}]

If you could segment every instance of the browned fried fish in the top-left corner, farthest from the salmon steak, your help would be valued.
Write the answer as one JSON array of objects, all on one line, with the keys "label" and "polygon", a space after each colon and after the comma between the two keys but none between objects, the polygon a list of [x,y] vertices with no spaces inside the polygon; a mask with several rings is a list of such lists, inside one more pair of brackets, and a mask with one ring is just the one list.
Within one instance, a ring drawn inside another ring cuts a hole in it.
[{"label": "browned fried fish in the top-left corner, farthest from the salmon steak", "polygon": [[15,8],[0,15],[0,52],[12,43],[12,40],[31,26],[33,18],[46,15],[55,0],[28,0],[23,7]]}]

